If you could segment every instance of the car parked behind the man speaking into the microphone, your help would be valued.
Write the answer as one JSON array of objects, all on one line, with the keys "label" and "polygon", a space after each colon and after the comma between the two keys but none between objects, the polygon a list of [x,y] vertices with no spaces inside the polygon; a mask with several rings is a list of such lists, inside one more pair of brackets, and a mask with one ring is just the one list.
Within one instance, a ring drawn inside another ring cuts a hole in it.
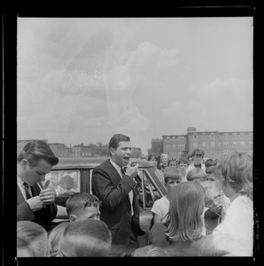
[{"label": "car parked behind the man speaking into the microphone", "polygon": [[[55,202],[59,206],[65,207],[66,200],[72,194],[76,192],[92,193],[93,169],[107,159],[107,157],[60,158],[58,165],[54,166],[45,178],[45,181],[50,180],[50,184],[57,192]],[[138,192],[140,206],[139,223],[145,232],[138,241],[140,246],[146,246],[152,226],[151,207],[155,200],[167,194],[167,190],[155,173],[157,168],[150,161],[136,158],[133,160],[136,160],[139,165],[136,192]],[[57,223],[58,219],[55,219],[52,226],[54,227]]]}]

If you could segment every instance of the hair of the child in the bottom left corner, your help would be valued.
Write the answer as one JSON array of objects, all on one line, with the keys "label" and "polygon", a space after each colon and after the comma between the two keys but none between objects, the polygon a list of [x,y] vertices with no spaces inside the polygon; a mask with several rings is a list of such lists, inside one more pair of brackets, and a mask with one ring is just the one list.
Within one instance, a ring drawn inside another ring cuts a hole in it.
[{"label": "hair of the child in the bottom left corner", "polygon": [[17,222],[17,238],[30,243],[34,257],[48,255],[48,233],[38,223],[31,221]]}]

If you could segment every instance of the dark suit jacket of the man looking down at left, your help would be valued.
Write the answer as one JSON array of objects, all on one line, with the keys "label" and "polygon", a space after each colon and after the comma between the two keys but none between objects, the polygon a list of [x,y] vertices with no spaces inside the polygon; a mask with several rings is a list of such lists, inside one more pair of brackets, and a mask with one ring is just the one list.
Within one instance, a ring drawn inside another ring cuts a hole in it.
[{"label": "dark suit jacket of the man looking down at left", "polygon": [[[40,188],[34,184],[30,186],[32,197],[39,195]],[[17,221],[31,221],[35,223],[39,223],[44,228],[47,228],[49,223],[54,220],[57,215],[58,207],[52,202],[50,205],[33,212],[27,201],[24,199],[19,186],[17,185]]]}]

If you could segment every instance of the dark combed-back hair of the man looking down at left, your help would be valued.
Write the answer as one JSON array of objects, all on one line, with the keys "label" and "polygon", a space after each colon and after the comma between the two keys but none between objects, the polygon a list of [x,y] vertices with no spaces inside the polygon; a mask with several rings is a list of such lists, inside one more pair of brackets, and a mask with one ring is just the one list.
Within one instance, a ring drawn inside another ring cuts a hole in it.
[{"label": "dark combed-back hair of the man looking down at left", "polygon": [[46,160],[52,166],[58,164],[58,158],[51,151],[50,146],[43,140],[28,142],[18,156],[19,162],[23,159],[27,159],[31,167],[34,167],[41,159]]}]

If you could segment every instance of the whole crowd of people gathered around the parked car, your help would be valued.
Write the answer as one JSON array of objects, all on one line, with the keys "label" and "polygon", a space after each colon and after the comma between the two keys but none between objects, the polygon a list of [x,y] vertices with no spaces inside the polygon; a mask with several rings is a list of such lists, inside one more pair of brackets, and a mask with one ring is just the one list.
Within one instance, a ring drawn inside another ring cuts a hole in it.
[{"label": "whole crowd of people gathered around the parked car", "polygon": [[[167,194],[154,201],[148,245],[139,225],[138,164],[128,136],[109,141],[110,159],[94,168],[92,193],[75,192],[66,207],[55,203],[45,175],[58,158],[43,141],[18,156],[17,256],[252,256],[252,157],[233,151],[203,160],[195,149],[170,163],[165,153],[148,157]],[[67,219],[50,230],[59,215]]]}]

